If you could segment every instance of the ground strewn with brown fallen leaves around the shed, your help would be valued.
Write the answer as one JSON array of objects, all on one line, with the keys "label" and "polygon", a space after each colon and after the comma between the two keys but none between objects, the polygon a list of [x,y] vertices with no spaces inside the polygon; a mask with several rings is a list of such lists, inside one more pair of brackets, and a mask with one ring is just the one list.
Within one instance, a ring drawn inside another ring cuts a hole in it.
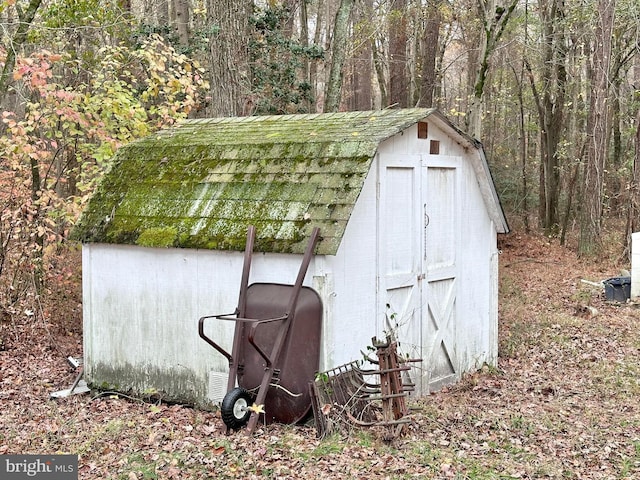
[{"label": "ground strewn with brown fallen leaves around the shed", "polygon": [[78,454],[81,479],[640,478],[640,310],[581,281],[616,262],[517,233],[501,248],[498,367],[412,402],[392,442],[312,425],[225,436],[215,412],[110,393],[49,400],[82,344],[79,276],[54,265],[50,320],[2,323],[0,454]]}]

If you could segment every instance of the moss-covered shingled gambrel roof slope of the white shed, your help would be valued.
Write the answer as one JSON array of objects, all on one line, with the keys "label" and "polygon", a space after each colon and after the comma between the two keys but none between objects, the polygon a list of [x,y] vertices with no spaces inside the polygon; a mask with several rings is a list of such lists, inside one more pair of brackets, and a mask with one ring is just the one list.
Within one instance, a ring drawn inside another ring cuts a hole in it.
[{"label": "moss-covered shingled gambrel roof slope of the white shed", "polygon": [[335,254],[381,141],[431,109],[187,120],[121,148],[82,242]]}]

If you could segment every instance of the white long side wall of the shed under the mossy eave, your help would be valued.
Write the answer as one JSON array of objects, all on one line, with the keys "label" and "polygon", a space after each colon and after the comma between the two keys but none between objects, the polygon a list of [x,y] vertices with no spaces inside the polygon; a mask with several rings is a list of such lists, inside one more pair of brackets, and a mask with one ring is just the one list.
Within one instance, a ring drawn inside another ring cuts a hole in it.
[{"label": "white long side wall of the shed under the mossy eave", "polygon": [[[301,257],[254,253],[251,282],[294,283]],[[105,387],[163,390],[194,403],[210,397],[211,371],[226,359],[198,335],[203,315],[231,313],[238,302],[241,252],[83,246],[85,374]],[[305,285],[314,285],[321,257]],[[321,279],[316,278],[316,282]],[[231,350],[232,322],[207,333]]]}]

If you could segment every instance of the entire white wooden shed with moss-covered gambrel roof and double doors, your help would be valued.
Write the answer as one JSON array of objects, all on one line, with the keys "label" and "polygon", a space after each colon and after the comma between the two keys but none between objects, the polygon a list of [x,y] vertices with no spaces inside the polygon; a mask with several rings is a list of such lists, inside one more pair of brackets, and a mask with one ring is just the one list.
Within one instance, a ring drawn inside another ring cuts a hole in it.
[{"label": "entire white wooden shed with moss-covered gambrel roof and double doors", "polygon": [[235,308],[248,225],[251,282],[293,283],[320,228],[322,369],[389,332],[423,359],[423,394],[496,364],[508,224],[482,145],[434,109],[389,109],[186,120],[121,148],[73,232],[88,382],[219,401],[227,361],[197,322]]}]

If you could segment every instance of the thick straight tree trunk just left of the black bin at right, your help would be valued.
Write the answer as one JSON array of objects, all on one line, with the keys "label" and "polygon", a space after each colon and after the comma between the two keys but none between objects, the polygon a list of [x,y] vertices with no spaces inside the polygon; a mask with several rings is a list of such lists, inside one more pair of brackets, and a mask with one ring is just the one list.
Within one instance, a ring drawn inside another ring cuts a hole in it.
[{"label": "thick straight tree trunk just left of the black bin at right", "polygon": [[615,0],[598,0],[593,53],[593,85],[589,108],[589,146],[585,169],[585,202],[580,221],[580,255],[597,254],[602,245],[602,193],[609,144],[609,71]]}]

